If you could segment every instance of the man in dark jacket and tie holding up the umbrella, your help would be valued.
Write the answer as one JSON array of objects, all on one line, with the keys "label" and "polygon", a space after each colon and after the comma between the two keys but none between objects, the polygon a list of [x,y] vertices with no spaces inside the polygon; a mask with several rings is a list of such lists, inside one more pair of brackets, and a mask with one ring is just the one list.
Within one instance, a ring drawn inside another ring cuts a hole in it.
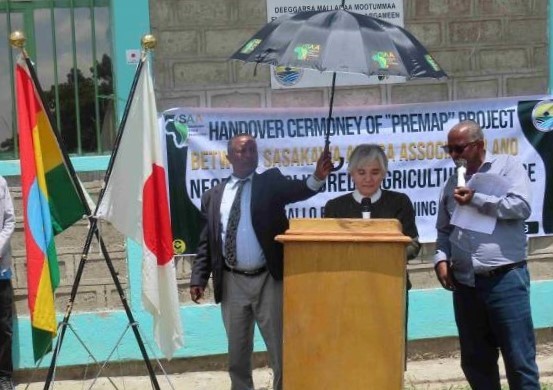
[{"label": "man in dark jacket and tie holding up the umbrella", "polygon": [[213,274],[215,302],[221,302],[228,337],[231,389],[254,388],[251,355],[257,323],[267,345],[274,389],[280,390],[283,247],[275,236],[288,228],[284,207],[323,186],[332,169],[330,153],[321,154],[306,180],[288,179],[276,168],[256,173],[257,144],[248,134],[229,140],[227,158],[232,176],[202,196],[205,227],[192,267],[190,296],[197,303]]}]

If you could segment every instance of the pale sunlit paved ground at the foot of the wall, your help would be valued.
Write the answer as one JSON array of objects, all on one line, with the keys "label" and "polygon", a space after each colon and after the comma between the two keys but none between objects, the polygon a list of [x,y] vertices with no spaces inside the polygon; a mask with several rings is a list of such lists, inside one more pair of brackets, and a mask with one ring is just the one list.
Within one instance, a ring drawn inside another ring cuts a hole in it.
[{"label": "pale sunlit paved ground at the foot of the wall", "polygon": [[[541,345],[538,354],[538,365],[542,376],[542,383],[550,384],[553,389],[553,344]],[[150,378],[147,376],[115,377],[113,383],[107,378],[92,380],[56,381],[50,387],[58,390],[74,389],[124,389],[146,390],[151,389]],[[170,383],[169,383],[170,381]],[[271,371],[260,368],[254,371],[254,381],[257,390],[270,390]],[[158,376],[160,388],[190,389],[190,390],[228,390],[230,388],[228,375],[225,371],[197,371],[182,374],[171,374],[168,377]],[[92,385],[92,387],[91,387]],[[38,390],[44,383],[20,383],[17,390]],[[409,361],[405,373],[406,390],[461,390],[468,389],[459,367],[458,358],[441,358],[430,360]],[[297,390],[297,389],[292,389]],[[379,389],[380,390],[380,389]]]}]

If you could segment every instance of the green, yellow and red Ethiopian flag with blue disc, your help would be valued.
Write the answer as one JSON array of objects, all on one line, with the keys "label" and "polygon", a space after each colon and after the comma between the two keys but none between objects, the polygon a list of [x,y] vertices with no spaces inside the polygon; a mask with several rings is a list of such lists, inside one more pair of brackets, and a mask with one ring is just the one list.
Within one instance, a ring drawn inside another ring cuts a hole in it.
[{"label": "green, yellow and red Ethiopian flag with blue disc", "polygon": [[54,291],[59,285],[60,271],[54,235],[81,219],[86,211],[44,110],[40,86],[33,81],[36,77],[31,72],[34,69],[30,61],[20,59],[15,72],[17,122],[27,286],[36,361],[52,349],[57,330]]}]

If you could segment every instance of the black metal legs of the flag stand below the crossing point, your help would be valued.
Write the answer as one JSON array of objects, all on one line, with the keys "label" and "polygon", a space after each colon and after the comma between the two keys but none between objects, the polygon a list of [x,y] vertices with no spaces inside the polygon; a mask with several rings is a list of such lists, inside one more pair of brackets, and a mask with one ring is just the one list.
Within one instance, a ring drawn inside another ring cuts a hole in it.
[{"label": "black metal legs of the flag stand below the crossing point", "polygon": [[[50,388],[50,384],[54,381],[57,358],[58,358],[58,355],[59,355],[60,350],[61,350],[61,345],[63,343],[63,339],[64,339],[64,336],[65,336],[66,329],[70,328],[73,331],[73,333],[75,333],[75,331],[73,330],[73,328],[69,324],[69,318],[71,317],[71,312],[73,311],[73,304],[75,302],[75,297],[77,296],[79,283],[81,281],[81,277],[82,277],[83,272],[84,272],[84,267],[85,267],[86,261],[88,259],[88,253],[89,253],[89,250],[90,250],[90,245],[92,243],[92,239],[93,239],[94,236],[96,236],[96,238],[98,239],[98,242],[100,243],[100,249],[101,249],[102,254],[104,256],[104,259],[106,261],[106,265],[108,266],[109,273],[110,273],[110,275],[113,279],[113,283],[115,284],[115,287],[117,289],[117,293],[119,294],[119,298],[121,299],[121,303],[123,304],[123,308],[125,310],[127,318],[129,319],[129,323],[127,324],[127,329],[125,330],[125,332],[123,332],[123,334],[119,338],[118,342],[116,343],[113,350],[110,352],[108,358],[106,359],[106,362],[100,368],[100,371],[98,372],[97,375],[99,376],[102,369],[109,362],[109,360],[110,360],[111,356],[113,355],[113,353],[115,352],[117,346],[121,343],[123,335],[126,333],[128,328],[130,327],[132,329],[133,333],[134,333],[134,336],[135,336],[136,341],[138,343],[138,347],[140,348],[140,352],[142,354],[142,358],[144,359],[144,363],[146,364],[146,368],[148,370],[148,375],[150,376],[152,387],[156,390],[159,390],[160,387],[159,387],[159,383],[157,381],[157,377],[155,375],[154,369],[153,369],[152,364],[150,362],[150,359],[148,357],[148,352],[146,351],[146,348],[144,346],[142,336],[140,335],[140,332],[138,330],[138,322],[136,322],[136,320],[134,319],[132,311],[129,307],[129,303],[128,303],[127,298],[125,296],[125,292],[123,290],[123,287],[121,286],[121,282],[119,281],[119,278],[117,277],[117,271],[113,267],[113,262],[111,260],[111,257],[109,256],[109,253],[108,253],[107,248],[104,244],[104,241],[102,240],[102,237],[100,236],[100,234],[98,232],[97,219],[94,218],[94,217],[89,217],[89,221],[90,221],[90,228],[88,230],[88,235],[86,237],[86,242],[85,242],[85,246],[83,248],[83,254],[81,255],[81,260],[79,262],[79,267],[78,267],[77,273],[75,275],[75,281],[73,282],[73,286],[71,288],[71,295],[69,297],[69,302],[67,303],[67,307],[65,309],[65,315],[63,317],[63,321],[60,322],[60,324],[58,326],[58,328],[59,328],[58,338],[56,340],[56,346],[52,351],[52,361],[50,362],[50,367],[48,369],[48,374],[46,376],[46,381],[44,382],[44,390],[48,390]],[[85,346],[84,342],[80,338],[78,338],[78,339],[79,339],[79,342],[83,346]],[[88,351],[89,355],[91,356],[90,350],[86,346],[85,346],[85,349]],[[93,359],[94,359],[94,357],[93,357]],[[94,359],[94,361],[96,362],[96,359]],[[157,360],[157,362],[158,362],[159,366],[161,367],[161,370],[165,374],[165,370],[161,366],[161,362],[159,360]],[[165,375],[167,377],[167,374],[165,374]],[[96,377],[96,379],[97,379],[97,377]],[[94,380],[94,382],[96,381],[96,379]],[[94,382],[92,383],[92,385],[94,384]],[[111,379],[110,379],[110,382],[111,382]],[[117,388],[117,387],[115,387],[115,388]]]}]

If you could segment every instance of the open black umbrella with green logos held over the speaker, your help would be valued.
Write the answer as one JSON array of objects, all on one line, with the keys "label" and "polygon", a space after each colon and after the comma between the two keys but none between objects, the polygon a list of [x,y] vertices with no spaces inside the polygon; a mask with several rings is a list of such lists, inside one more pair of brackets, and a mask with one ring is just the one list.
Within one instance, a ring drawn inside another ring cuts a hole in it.
[{"label": "open black umbrella with green logos held over the speaker", "polygon": [[[342,6],[344,1],[342,2]],[[306,11],[266,24],[231,59],[333,72],[328,120],[332,118],[336,72],[367,76],[443,78],[434,58],[407,30],[345,11]],[[330,143],[330,126],[325,147]]]}]

